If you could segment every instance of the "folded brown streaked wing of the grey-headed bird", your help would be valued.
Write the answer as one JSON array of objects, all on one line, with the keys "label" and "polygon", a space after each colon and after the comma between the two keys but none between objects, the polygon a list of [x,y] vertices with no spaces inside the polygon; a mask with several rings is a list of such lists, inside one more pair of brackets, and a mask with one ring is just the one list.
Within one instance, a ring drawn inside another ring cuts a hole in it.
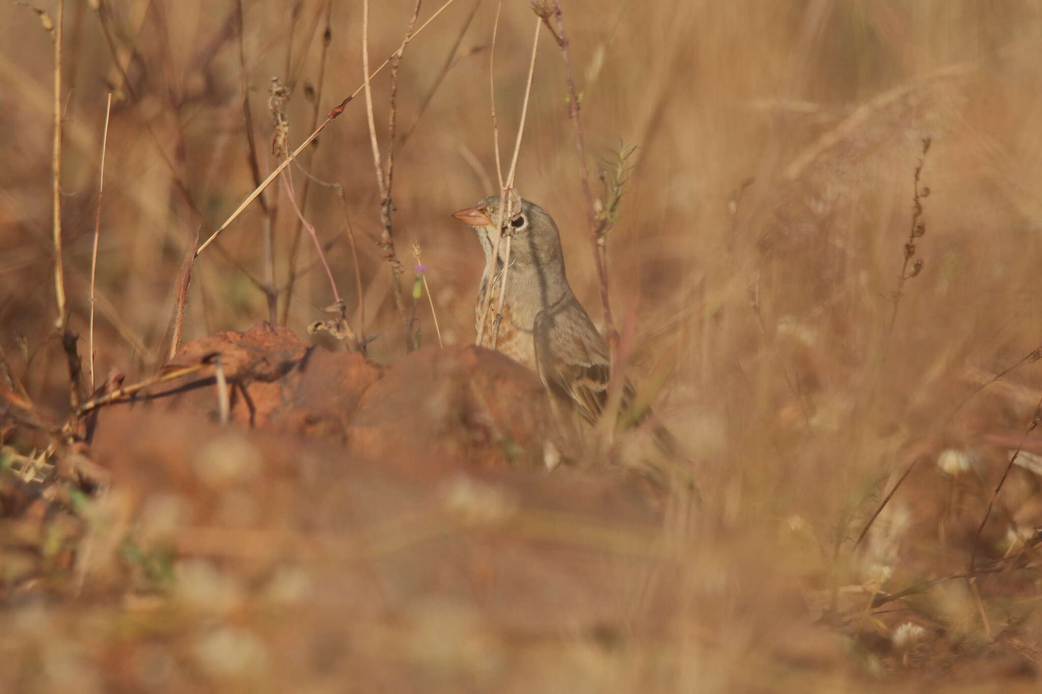
[{"label": "folded brown streaked wing of the grey-headed bird", "polygon": [[607,397],[607,344],[574,298],[541,311],[534,327],[536,365],[543,384],[571,401],[591,423]]}]

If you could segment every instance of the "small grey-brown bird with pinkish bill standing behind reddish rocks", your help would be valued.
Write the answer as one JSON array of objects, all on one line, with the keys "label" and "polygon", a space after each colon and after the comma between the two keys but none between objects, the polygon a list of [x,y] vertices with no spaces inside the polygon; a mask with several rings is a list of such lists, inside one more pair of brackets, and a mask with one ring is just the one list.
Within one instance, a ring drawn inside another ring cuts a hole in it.
[{"label": "small grey-brown bird with pinkish bill standing behind reddish rocks", "polygon": [[[568,283],[561,234],[553,217],[516,194],[511,214],[503,219],[513,238],[506,295],[496,335],[495,313],[506,254],[506,245],[500,242],[498,256],[493,258],[499,235],[499,206],[500,196],[490,196],[452,214],[474,228],[485,251],[486,266],[474,315],[480,346],[493,348],[535,370],[547,390],[574,407],[587,422],[595,423],[611,382],[607,343]],[[486,315],[482,309],[489,292],[492,310]],[[628,382],[624,388],[625,405],[635,393]]]}]

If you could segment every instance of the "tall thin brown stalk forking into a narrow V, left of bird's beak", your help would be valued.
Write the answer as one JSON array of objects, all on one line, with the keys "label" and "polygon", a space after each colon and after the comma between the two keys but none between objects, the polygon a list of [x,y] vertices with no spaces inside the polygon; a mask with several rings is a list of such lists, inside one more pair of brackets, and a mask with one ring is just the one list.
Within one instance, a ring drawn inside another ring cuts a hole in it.
[{"label": "tall thin brown stalk forking into a narrow V, left of bird's beak", "polygon": [[[405,46],[410,42],[413,28],[416,26],[417,17],[420,15],[421,2],[422,0],[417,0],[416,5],[413,8],[413,17],[408,22],[408,28],[405,29],[405,36],[402,38],[401,46],[399,46],[398,50],[395,51],[389,58],[391,62],[391,112],[389,115],[388,129],[390,130],[391,144],[388,151],[386,170],[382,157],[380,156],[380,146],[376,138],[376,120],[373,117],[373,94],[370,84],[372,78],[370,77],[367,79],[365,84],[366,117],[369,124],[369,142],[373,150],[373,168],[376,172],[376,185],[380,194],[380,226],[382,227],[382,231],[380,232],[379,243],[380,248],[383,250],[383,260],[386,260],[391,266],[391,285],[394,288],[394,301],[395,306],[398,308],[398,316],[401,318],[404,327],[406,351],[412,351],[414,346],[412,338],[413,324],[405,308],[405,297],[401,289],[401,275],[404,272],[404,267],[398,259],[398,255],[394,248],[394,234],[391,224],[391,210],[393,208],[391,200],[391,186],[394,180],[394,127],[397,118],[397,104],[395,103],[395,98],[398,91],[398,65],[401,61],[401,55],[405,50]],[[362,68],[364,74],[369,75],[369,0],[363,0],[362,3]]]}]

